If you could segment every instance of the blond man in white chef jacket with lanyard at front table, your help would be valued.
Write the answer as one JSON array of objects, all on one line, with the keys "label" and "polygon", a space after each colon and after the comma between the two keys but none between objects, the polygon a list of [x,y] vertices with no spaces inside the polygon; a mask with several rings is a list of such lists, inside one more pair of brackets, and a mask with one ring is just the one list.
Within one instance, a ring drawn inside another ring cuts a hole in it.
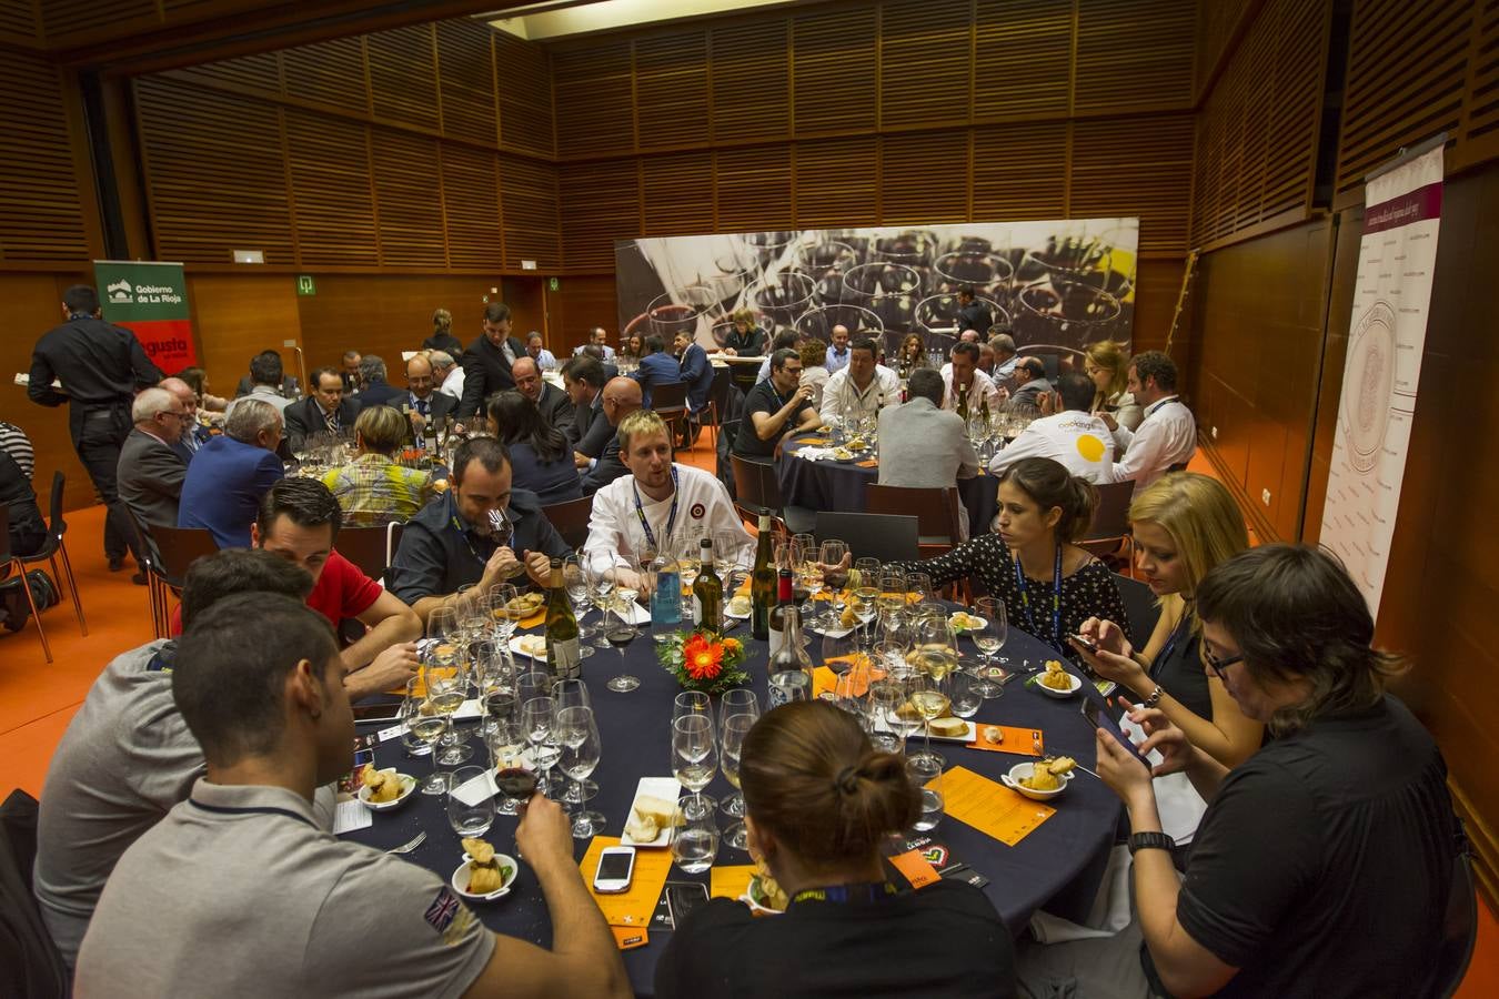
[{"label": "blond man in white chef jacket with lanyard at front table", "polygon": [[585,553],[609,553],[619,586],[637,589],[636,559],[660,551],[664,539],[688,530],[730,532],[735,560],[748,566],[752,547],[729,490],[703,469],[672,461],[672,437],[655,412],[639,409],[619,424],[619,457],[630,475],[594,494]]}]

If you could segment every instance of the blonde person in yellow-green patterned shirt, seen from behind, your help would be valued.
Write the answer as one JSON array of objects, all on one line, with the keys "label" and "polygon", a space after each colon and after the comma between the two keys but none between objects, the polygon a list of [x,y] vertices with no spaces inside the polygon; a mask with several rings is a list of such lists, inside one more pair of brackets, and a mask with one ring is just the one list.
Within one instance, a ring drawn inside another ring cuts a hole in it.
[{"label": "blonde person in yellow-green patterned shirt, seen from behind", "polygon": [[354,421],[354,460],[322,476],[343,508],[345,527],[408,521],[436,494],[430,472],[394,461],[409,433],[406,416],[390,406],[360,410]]}]

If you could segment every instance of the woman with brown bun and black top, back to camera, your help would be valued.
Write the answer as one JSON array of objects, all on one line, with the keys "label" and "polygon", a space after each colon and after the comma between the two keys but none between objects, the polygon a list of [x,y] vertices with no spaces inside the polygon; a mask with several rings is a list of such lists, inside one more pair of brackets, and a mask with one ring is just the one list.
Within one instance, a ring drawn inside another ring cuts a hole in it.
[{"label": "woman with brown bun and black top, back to camera", "polygon": [[880,843],[916,821],[919,792],[851,714],[826,701],[766,713],[739,780],[750,852],[790,905],[767,918],[732,899],[696,909],[657,963],[658,996],[1015,995],[1010,935],[982,891],[886,881]]}]

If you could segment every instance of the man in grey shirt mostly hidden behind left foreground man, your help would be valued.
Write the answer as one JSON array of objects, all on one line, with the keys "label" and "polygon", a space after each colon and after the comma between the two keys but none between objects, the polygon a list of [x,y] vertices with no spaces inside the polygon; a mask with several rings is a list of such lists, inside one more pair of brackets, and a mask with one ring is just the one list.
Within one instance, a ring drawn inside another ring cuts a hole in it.
[{"label": "man in grey shirt mostly hidden behind left foreground man", "polygon": [[[312,577],[285,559],[220,551],[187,571],[183,623],[235,593],[306,599],[310,589]],[[120,855],[204,774],[198,740],[172,701],[175,653],[175,643],[151,641],[105,666],[46,768],[33,890],[69,968]],[[321,804],[331,828],[331,791]]]}]

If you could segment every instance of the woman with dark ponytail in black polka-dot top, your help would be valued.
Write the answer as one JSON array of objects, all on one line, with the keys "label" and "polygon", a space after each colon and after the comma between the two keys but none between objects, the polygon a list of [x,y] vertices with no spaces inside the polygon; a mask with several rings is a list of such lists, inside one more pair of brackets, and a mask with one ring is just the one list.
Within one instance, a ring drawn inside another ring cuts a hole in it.
[{"label": "woman with dark ponytail in black polka-dot top", "polygon": [[[1099,493],[1051,458],[1021,458],[1000,479],[998,533],[974,538],[944,556],[905,563],[932,586],[976,578],[1004,601],[1010,628],[1019,628],[1078,659],[1067,637],[1084,622],[1124,620],[1114,574],[1072,544],[1093,520]],[[1060,574],[1058,574],[1060,568]]]}]

